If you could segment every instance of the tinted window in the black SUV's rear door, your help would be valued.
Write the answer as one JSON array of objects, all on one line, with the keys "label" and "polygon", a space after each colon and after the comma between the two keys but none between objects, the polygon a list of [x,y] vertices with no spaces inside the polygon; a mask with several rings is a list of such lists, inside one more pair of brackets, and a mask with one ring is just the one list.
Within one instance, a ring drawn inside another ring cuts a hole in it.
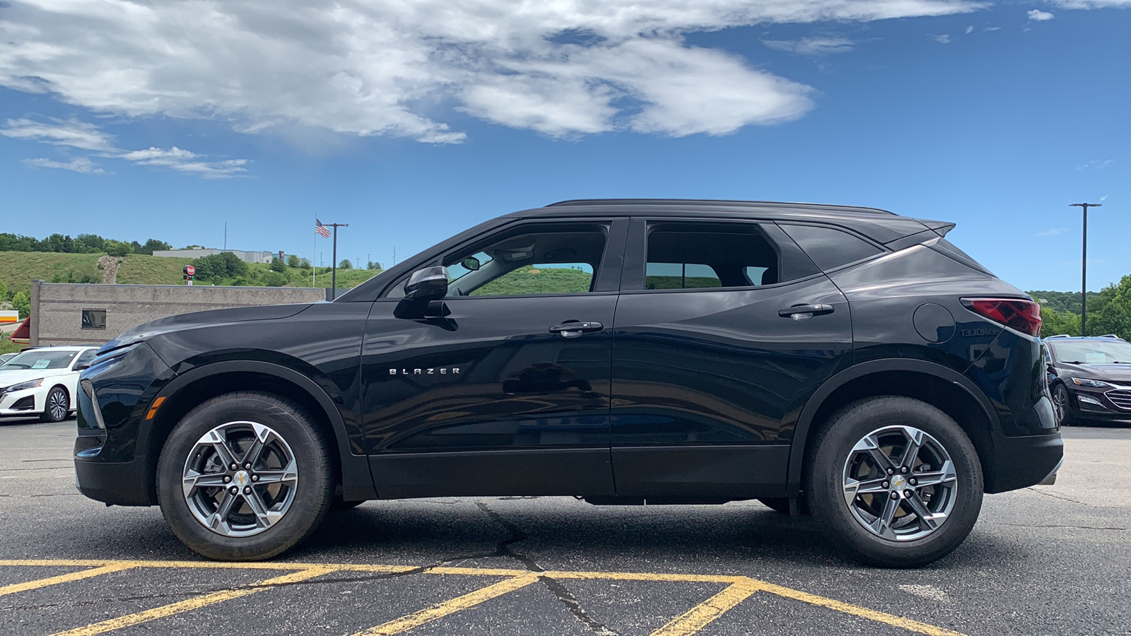
[{"label": "tinted window in the black SUV's rear door", "polygon": [[649,225],[646,290],[749,287],[778,282],[777,250],[751,223]]}]

